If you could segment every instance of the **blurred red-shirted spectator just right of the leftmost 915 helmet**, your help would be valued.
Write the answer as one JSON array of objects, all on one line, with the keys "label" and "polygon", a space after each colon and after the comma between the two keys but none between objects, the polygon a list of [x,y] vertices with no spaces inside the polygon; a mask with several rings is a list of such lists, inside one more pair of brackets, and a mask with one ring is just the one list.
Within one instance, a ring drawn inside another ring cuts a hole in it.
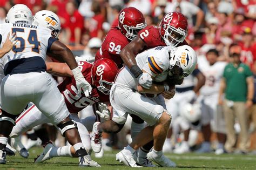
[{"label": "blurred red-shirted spectator just right of the leftmost 915 helmet", "polygon": [[76,4],[69,2],[66,4],[65,24],[63,28],[68,32],[70,45],[80,45],[80,38],[84,28],[84,18],[78,12]]}]

